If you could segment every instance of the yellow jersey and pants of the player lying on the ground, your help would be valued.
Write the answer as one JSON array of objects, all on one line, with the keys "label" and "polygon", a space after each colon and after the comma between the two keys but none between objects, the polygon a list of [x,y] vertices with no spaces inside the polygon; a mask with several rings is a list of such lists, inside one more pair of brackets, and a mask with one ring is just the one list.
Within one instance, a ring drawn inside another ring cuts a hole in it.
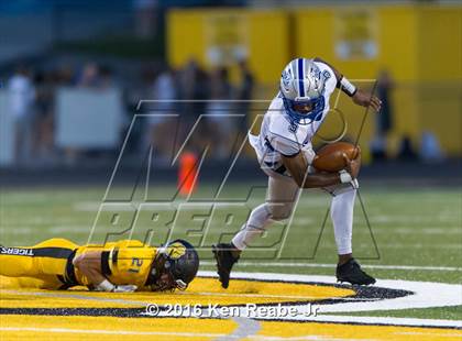
[{"label": "yellow jersey and pants of the player lying on the ground", "polygon": [[[101,272],[112,284],[131,284],[136,285],[140,290],[151,290],[145,287],[145,283],[158,250],[136,240],[105,245],[77,245],[61,238],[50,239],[34,246],[1,246],[0,287],[91,287],[88,277],[73,265],[73,260],[96,251],[101,252]],[[175,255],[174,252],[172,254]]]}]

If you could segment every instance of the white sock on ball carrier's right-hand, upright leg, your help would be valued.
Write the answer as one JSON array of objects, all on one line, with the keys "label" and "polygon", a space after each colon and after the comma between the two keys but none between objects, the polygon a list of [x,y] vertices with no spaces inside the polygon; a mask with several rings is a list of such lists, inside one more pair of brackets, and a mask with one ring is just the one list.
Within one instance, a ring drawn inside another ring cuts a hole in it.
[{"label": "white sock on ball carrier's right-hand, upright leg", "polygon": [[351,239],[355,197],[356,190],[349,190],[333,197],[330,205],[330,217],[339,254],[352,253]]}]

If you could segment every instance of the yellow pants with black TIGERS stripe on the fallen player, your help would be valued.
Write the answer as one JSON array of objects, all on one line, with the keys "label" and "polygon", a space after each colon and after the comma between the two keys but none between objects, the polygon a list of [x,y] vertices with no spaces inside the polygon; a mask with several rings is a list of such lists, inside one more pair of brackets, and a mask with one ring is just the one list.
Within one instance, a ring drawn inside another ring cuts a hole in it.
[{"label": "yellow pants with black TIGERS stripe on the fallen player", "polygon": [[56,289],[68,282],[67,260],[78,245],[65,239],[51,239],[30,248],[0,248],[2,287],[40,287]]}]

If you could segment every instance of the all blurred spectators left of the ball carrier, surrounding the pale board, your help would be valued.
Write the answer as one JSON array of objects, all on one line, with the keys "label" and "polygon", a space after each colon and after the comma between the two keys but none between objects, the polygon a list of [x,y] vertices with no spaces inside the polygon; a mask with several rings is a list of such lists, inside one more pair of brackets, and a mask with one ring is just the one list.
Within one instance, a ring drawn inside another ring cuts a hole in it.
[{"label": "all blurred spectators left of the ball carrier, surrounding the pale board", "polygon": [[[119,88],[123,94],[124,106],[120,143],[133,114],[140,113],[140,99],[155,100],[153,105],[141,108],[142,113],[150,116],[147,124],[135,131],[138,136],[131,139],[132,152],[140,152],[152,143],[161,158],[169,157],[172,135],[179,133],[177,140],[186,139],[198,118],[206,114],[201,119],[205,121],[199,124],[200,130],[190,139],[190,147],[201,148],[205,143],[209,143],[213,146],[212,156],[228,157],[234,136],[246,133],[249,100],[254,90],[254,77],[246,63],[240,62],[237,69],[239,80],[231,82],[228,68],[217,67],[206,72],[195,61],[179,69],[165,64],[142,66],[138,77],[128,79],[110,67],[94,62],[78,67],[57,66],[46,70],[20,65],[6,84],[10,95],[9,112],[14,118],[15,128],[14,164],[74,164],[95,152],[72,147],[59,150],[56,146],[55,103],[61,87],[96,91]],[[226,113],[238,113],[239,118],[229,120]],[[179,132],[176,132],[178,127]],[[118,150],[112,152],[117,153]]]}]

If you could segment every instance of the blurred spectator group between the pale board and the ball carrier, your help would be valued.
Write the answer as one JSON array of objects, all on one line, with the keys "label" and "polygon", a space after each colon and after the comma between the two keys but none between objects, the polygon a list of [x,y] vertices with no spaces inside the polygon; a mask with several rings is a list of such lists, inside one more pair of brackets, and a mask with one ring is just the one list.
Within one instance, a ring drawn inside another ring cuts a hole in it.
[{"label": "blurred spectator group between the pale board and the ball carrier", "polygon": [[[172,136],[186,141],[197,152],[206,146],[216,158],[230,156],[234,141],[246,134],[254,77],[244,61],[238,65],[239,80],[230,80],[227,67],[209,72],[194,59],[180,69],[164,65],[146,75],[144,94],[136,99],[153,99],[141,109],[150,113],[150,143],[161,157],[172,154]],[[144,95],[144,96],[143,96]]]}]

